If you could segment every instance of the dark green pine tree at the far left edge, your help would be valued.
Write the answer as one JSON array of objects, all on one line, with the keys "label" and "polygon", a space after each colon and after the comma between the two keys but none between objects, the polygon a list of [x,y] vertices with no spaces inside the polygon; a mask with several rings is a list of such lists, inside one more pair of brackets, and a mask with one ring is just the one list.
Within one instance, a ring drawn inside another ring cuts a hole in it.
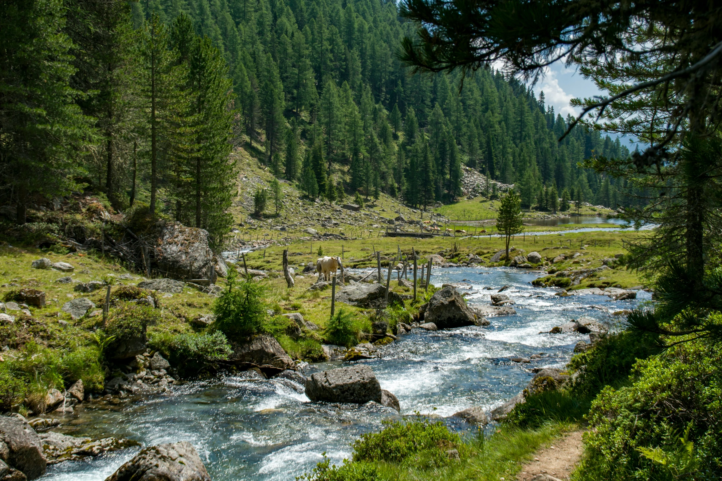
[{"label": "dark green pine tree at the far left edge", "polygon": [[71,40],[59,1],[14,0],[0,8],[0,167],[25,224],[30,195],[77,188],[77,153],[92,134],[74,100]]}]

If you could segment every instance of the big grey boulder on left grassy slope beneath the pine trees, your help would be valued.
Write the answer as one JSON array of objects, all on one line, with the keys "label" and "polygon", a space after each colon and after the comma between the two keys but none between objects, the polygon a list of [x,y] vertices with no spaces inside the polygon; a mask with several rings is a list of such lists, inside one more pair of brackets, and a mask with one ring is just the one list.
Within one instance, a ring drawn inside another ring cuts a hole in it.
[{"label": "big grey boulder on left grassy slope beneath the pine trees", "polygon": [[183,226],[180,222],[170,222],[161,229],[155,247],[155,262],[160,270],[173,278],[207,279],[211,265],[217,275],[225,275],[227,271],[222,258],[215,256],[208,247],[208,232]]}]

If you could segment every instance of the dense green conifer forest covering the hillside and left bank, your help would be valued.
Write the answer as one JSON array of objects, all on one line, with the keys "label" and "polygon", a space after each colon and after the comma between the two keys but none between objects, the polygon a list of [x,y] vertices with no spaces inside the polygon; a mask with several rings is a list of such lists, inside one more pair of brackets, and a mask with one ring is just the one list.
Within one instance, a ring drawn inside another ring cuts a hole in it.
[{"label": "dense green conifer forest covering the hillside and left bank", "polygon": [[3,17],[1,195],[21,224],[85,188],[222,237],[234,145],[313,198],[449,202],[466,164],[525,207],[630,202],[624,180],[576,167],[626,157],[619,140],[557,142],[570,120],[519,81],[411,75],[396,54],[415,27],[391,2],[38,0]]}]

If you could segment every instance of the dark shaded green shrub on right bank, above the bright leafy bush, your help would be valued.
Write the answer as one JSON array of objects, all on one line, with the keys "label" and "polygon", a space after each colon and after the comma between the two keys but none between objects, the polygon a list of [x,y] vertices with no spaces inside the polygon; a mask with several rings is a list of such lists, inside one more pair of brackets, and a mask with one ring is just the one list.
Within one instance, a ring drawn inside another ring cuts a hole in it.
[{"label": "dark shaded green shrub on right bank, above the bright leafy bush", "polygon": [[567,364],[574,379],[570,392],[575,397],[591,399],[605,386],[619,387],[627,383],[634,363],[654,352],[653,337],[640,337],[627,331],[607,335],[593,348],[575,354]]}]

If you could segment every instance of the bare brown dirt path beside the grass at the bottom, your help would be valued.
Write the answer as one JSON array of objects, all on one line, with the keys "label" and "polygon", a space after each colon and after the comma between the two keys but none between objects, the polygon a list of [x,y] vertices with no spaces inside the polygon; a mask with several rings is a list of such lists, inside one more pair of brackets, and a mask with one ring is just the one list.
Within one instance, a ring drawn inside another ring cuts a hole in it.
[{"label": "bare brown dirt path beside the grass at the bottom", "polygon": [[548,448],[536,451],[534,459],[521,467],[517,480],[530,481],[536,475],[549,475],[560,480],[568,480],[582,455],[583,432],[568,433],[563,438],[555,440]]}]

